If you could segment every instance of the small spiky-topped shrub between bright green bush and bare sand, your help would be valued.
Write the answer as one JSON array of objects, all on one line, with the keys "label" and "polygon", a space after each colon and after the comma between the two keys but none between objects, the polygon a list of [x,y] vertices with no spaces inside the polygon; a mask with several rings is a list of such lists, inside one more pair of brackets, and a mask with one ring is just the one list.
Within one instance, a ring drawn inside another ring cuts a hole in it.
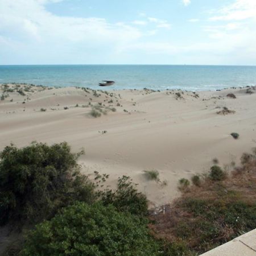
[{"label": "small spiky-topped shrub between bright green bush and bare sand", "polygon": [[129,176],[118,178],[117,189],[105,189],[100,192],[100,199],[104,205],[112,204],[121,212],[130,212],[146,216],[147,198],[137,188]]}]

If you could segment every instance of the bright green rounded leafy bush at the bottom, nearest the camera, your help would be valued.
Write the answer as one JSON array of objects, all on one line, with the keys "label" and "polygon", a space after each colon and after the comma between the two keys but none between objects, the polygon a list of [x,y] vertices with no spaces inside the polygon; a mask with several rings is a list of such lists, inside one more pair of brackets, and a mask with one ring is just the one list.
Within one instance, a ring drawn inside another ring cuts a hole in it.
[{"label": "bright green rounded leafy bush at the bottom, nearest the camera", "polygon": [[20,255],[159,255],[146,221],[112,205],[79,203],[28,233]]}]

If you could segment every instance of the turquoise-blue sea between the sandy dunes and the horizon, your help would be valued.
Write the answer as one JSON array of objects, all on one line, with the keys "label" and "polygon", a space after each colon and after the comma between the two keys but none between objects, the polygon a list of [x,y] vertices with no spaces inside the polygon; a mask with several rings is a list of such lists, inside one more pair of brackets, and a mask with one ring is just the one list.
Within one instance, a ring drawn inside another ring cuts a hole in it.
[{"label": "turquoise-blue sea between the sandy dunes and the horizon", "polygon": [[203,65],[2,65],[0,83],[25,82],[47,86],[102,89],[215,90],[256,84],[256,66]]}]

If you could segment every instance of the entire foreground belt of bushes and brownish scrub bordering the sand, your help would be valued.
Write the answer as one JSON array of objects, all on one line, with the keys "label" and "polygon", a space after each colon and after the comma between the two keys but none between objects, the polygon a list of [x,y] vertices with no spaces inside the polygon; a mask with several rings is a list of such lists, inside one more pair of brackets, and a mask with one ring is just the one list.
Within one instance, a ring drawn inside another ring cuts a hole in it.
[{"label": "entire foreground belt of bushes and brownish scrub bordering the sand", "polygon": [[130,177],[105,188],[109,175],[80,173],[81,154],[65,142],[11,144],[0,153],[0,224],[30,229],[4,255],[190,256],[255,228],[256,150],[230,175],[214,165],[192,185],[181,179],[181,197],[150,217]]}]

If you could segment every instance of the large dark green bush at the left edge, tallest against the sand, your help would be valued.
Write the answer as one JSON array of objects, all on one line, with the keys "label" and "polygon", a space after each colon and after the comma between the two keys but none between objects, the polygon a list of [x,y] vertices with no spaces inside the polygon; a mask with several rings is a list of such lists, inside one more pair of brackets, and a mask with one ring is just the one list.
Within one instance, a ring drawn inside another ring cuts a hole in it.
[{"label": "large dark green bush at the left edge, tallest against the sand", "polygon": [[74,200],[93,200],[94,186],[79,172],[67,143],[13,144],[0,153],[0,225],[38,222]]}]

